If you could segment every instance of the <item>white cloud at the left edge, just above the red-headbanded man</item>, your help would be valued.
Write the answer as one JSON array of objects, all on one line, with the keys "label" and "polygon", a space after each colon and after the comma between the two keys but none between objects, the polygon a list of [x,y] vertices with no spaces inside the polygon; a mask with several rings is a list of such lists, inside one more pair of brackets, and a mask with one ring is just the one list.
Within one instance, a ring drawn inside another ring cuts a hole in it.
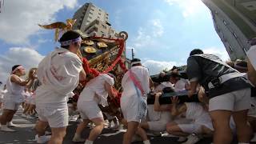
[{"label": "white cloud at the left edge, just above the red-headbanded man", "polygon": [[6,54],[0,55],[0,82],[6,83],[6,78],[10,75],[11,67],[22,65],[26,70],[37,67],[44,56],[36,50],[25,47],[12,47]]}]

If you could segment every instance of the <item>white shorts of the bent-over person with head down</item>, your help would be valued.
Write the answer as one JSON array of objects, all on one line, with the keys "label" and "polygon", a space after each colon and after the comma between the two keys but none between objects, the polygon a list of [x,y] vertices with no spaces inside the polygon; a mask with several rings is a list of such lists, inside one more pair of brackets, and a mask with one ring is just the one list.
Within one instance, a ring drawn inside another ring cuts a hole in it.
[{"label": "white shorts of the bent-over person with head down", "polygon": [[82,119],[103,119],[102,110],[98,107],[98,103],[95,101],[78,100],[78,111],[80,112]]}]

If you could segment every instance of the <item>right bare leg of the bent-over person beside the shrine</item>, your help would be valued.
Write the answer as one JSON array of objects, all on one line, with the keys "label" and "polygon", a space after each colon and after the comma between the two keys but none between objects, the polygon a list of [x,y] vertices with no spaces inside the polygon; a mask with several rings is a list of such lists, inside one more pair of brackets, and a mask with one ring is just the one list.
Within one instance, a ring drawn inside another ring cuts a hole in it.
[{"label": "right bare leg of the bent-over person beside the shrine", "polygon": [[87,138],[89,141],[94,141],[99,134],[102,134],[102,130],[104,128],[104,120],[103,118],[93,118],[90,120],[91,122],[94,122],[96,125],[93,130],[90,130],[90,135]]}]

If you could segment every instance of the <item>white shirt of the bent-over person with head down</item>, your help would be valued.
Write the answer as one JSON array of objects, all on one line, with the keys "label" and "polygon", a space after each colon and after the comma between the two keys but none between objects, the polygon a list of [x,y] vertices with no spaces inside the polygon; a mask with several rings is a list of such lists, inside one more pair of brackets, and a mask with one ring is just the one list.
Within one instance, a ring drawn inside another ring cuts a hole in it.
[{"label": "white shirt of the bent-over person with head down", "polygon": [[[106,98],[108,93],[104,86],[105,83],[109,83],[110,86],[114,86],[114,78],[111,78],[108,74],[99,74],[86,83],[85,88],[79,96],[80,101],[93,101],[96,100],[98,104],[106,106]],[[96,96],[96,97],[95,97]]]}]

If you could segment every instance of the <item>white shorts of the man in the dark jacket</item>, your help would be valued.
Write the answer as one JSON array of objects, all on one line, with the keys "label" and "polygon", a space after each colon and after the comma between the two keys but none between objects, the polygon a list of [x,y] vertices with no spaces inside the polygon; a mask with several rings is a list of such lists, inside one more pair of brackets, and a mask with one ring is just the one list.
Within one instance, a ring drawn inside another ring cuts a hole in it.
[{"label": "white shorts of the man in the dark jacket", "polygon": [[250,109],[250,88],[233,91],[210,98],[209,111],[230,110],[240,111]]}]

